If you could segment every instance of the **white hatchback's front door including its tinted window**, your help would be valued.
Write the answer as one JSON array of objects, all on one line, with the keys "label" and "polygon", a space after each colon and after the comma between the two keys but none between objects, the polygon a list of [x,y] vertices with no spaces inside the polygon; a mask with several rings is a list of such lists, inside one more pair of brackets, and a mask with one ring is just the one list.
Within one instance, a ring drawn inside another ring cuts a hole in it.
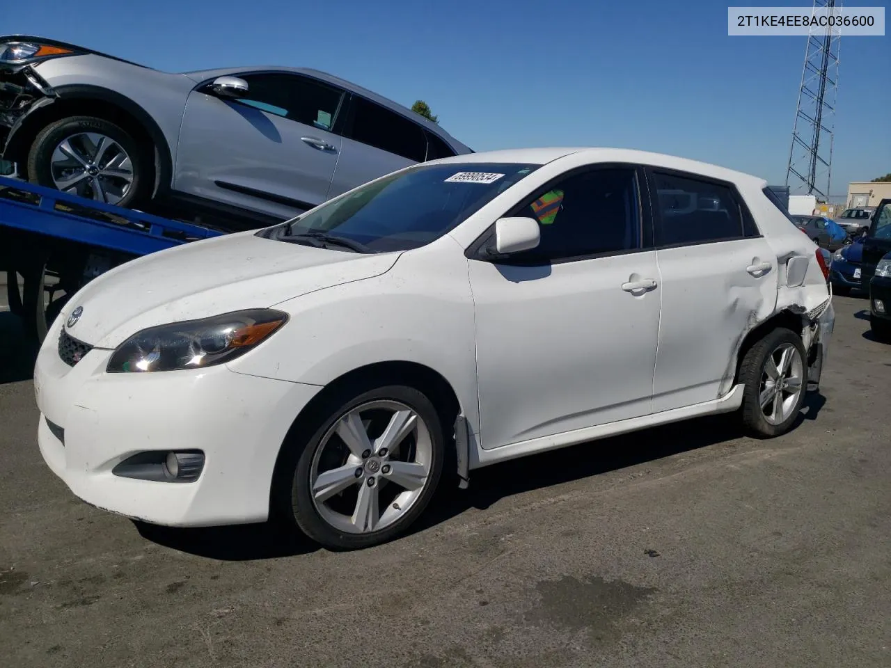
[{"label": "white hatchback's front door including its tinted window", "polygon": [[552,183],[511,212],[538,220],[538,248],[469,261],[484,448],[650,413],[659,285],[641,175]]}]

